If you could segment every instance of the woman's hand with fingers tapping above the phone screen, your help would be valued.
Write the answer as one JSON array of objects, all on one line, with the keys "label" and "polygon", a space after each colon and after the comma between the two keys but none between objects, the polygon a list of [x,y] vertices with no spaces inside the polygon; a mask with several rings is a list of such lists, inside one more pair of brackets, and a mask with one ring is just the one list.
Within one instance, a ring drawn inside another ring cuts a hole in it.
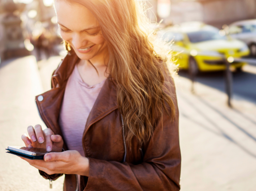
[{"label": "woman's hand with fingers tapping above the phone screen", "polygon": [[22,135],[22,140],[26,147],[44,148],[48,152],[62,152],[63,140],[60,135],[54,135],[53,131],[49,128],[42,130],[41,125],[27,127],[27,132],[30,138]]}]

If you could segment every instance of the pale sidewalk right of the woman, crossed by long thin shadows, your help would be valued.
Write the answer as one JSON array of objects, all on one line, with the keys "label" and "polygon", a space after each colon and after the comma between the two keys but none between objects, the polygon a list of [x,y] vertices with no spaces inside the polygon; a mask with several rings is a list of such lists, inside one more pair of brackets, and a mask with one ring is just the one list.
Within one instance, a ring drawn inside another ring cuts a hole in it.
[{"label": "pale sidewalk right of the woman, crossed by long thin shadows", "polygon": [[256,105],[176,80],[182,153],[181,191],[255,191]]}]

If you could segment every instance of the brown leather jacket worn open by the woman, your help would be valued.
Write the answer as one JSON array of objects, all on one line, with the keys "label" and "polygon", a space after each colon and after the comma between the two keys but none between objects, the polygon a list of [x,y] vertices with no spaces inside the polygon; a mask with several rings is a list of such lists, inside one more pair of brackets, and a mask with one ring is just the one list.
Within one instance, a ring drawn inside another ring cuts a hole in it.
[{"label": "brown leather jacket worn open by the woman", "polygon": [[[52,89],[35,98],[46,126],[61,136],[58,116],[62,98],[67,79],[78,60],[75,54],[69,53],[53,72]],[[139,148],[134,138],[132,148],[127,149],[117,106],[116,84],[111,77],[107,78],[88,116],[82,139],[85,156],[89,158],[89,176],[81,176],[78,188],[77,175],[65,174],[64,191],[180,190],[179,114],[173,80],[166,76],[166,81],[172,84],[166,83],[166,87],[173,96],[176,120],[170,123],[168,115],[164,114],[163,129],[160,122],[156,123],[153,138],[143,148]],[[63,148],[67,149],[65,140]],[[43,171],[40,174],[50,180],[62,175],[49,175]]]}]

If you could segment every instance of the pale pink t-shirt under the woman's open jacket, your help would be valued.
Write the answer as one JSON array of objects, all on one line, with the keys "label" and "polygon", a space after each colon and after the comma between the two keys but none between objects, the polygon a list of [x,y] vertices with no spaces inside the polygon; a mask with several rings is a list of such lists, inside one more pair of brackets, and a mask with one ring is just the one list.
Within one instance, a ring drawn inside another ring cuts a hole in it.
[{"label": "pale pink t-shirt under the woman's open jacket", "polygon": [[105,81],[106,79],[96,85],[87,85],[75,65],[66,84],[59,125],[68,149],[77,150],[83,157],[82,137],[85,123]]}]

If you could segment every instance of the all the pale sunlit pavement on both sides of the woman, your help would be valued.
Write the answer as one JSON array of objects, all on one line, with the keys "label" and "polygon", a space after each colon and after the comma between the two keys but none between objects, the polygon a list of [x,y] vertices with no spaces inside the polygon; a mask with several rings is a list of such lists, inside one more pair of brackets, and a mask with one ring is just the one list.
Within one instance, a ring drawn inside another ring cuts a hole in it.
[{"label": "all the pale sunlit pavement on both sides of the woman", "polygon": [[[55,56],[36,64],[33,56],[27,56],[0,65],[1,191],[62,191],[64,177],[49,189],[49,181],[34,167],[4,153],[8,145],[23,145],[20,137],[27,126],[42,124],[34,97],[50,89],[51,74],[60,60]],[[175,81],[181,191],[255,191],[256,104],[234,96],[233,108],[229,108],[219,89],[196,82],[191,93],[187,78],[177,76]]]}]

